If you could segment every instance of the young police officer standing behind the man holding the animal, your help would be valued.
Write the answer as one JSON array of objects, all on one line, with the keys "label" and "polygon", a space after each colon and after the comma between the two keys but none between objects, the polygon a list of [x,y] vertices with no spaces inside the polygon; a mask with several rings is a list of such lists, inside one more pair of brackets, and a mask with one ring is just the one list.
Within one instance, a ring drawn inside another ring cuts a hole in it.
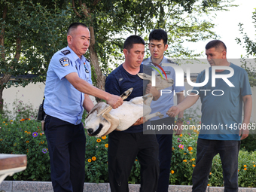
[{"label": "young police officer standing behind the man holding the animal", "polygon": [[[157,68],[157,65],[161,66],[166,73],[167,78],[175,80],[175,70],[171,66],[162,66],[163,63],[174,63],[170,59],[167,59],[163,53],[167,50],[167,33],[163,29],[154,29],[149,35],[149,50],[151,51],[151,57],[143,60],[143,65],[153,66]],[[153,69],[154,70],[154,69]],[[184,99],[184,87],[176,87],[175,84],[172,87],[167,87],[166,90],[172,90],[172,93],[162,94],[160,98],[151,102],[151,113],[160,111],[164,114],[163,118],[153,117],[151,119],[151,126],[166,125],[172,126],[175,123],[173,117],[169,117],[166,112],[169,110],[173,103],[173,93],[177,95],[177,102],[180,103]],[[152,93],[155,90],[148,85],[146,93]],[[183,111],[178,114],[178,120],[176,126],[178,130],[176,135],[181,134]],[[157,142],[159,144],[159,161],[160,161],[160,175],[158,178],[157,192],[168,192],[169,187],[169,172],[171,167],[172,158],[172,131],[161,130],[157,132]]]}]

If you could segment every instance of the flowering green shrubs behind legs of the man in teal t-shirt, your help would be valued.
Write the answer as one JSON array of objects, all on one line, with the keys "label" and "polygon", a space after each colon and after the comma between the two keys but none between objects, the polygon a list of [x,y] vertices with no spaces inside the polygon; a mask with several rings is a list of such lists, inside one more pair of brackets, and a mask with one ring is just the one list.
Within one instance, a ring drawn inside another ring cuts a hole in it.
[{"label": "flowering green shrubs behind legs of the man in teal t-shirt", "polygon": [[[194,120],[186,123],[198,124]],[[196,127],[194,127],[196,128]],[[255,135],[251,135],[254,137]],[[172,139],[172,164],[170,172],[170,184],[192,184],[192,172],[195,166],[197,154],[197,130],[193,133],[185,130],[181,136],[173,136]],[[246,139],[245,139],[246,140]],[[249,143],[249,142],[248,142]],[[182,149],[183,148],[183,149]],[[189,150],[190,148],[190,150]],[[256,151],[239,151],[239,187],[256,187]],[[209,186],[224,186],[221,158],[217,154],[212,160],[212,170],[209,175]]]}]

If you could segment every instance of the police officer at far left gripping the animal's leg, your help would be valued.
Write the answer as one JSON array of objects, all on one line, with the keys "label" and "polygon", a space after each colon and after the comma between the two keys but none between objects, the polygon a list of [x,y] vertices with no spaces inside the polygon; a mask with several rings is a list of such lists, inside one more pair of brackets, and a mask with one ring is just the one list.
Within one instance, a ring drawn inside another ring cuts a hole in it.
[{"label": "police officer at far left gripping the animal's leg", "polygon": [[113,108],[122,105],[123,100],[92,85],[90,62],[83,56],[90,45],[87,26],[72,23],[67,41],[68,47],[56,52],[48,67],[44,129],[53,190],[82,192],[86,137],[81,119],[84,109],[93,108],[88,94],[105,99]]}]

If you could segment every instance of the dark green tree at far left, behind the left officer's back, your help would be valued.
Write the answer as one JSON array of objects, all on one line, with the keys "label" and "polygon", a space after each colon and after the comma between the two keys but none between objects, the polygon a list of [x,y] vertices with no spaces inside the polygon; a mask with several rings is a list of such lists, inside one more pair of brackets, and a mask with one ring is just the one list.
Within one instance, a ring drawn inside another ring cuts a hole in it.
[{"label": "dark green tree at far left, behind the left officer's back", "polygon": [[[67,25],[71,23],[72,10],[63,8],[58,1],[0,1],[0,108],[2,93],[11,85],[44,82],[51,56],[66,46]],[[59,1],[62,2],[62,1]],[[50,6],[49,6],[50,4]],[[11,81],[11,75],[35,75],[34,78]]]}]

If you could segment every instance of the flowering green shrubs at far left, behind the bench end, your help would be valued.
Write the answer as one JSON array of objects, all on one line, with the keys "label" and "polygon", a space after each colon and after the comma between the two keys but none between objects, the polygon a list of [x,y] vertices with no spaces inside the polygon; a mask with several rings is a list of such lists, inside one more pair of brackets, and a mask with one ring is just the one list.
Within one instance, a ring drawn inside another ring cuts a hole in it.
[{"label": "flowering green shrubs at far left, behind the bench end", "polygon": [[26,154],[27,168],[9,179],[50,181],[50,158],[41,123],[30,119],[2,120],[0,118],[0,151],[3,154]]}]

